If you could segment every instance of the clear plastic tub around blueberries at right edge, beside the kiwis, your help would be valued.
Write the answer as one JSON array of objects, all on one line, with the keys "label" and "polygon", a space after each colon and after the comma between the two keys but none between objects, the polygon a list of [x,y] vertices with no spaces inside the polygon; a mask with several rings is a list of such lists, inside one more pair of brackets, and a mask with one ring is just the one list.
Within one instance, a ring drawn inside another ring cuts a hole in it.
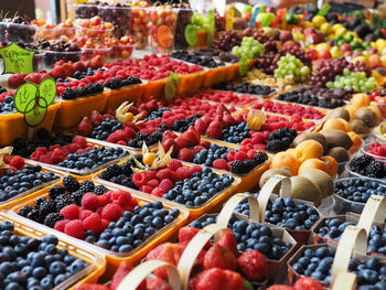
[{"label": "clear plastic tub around blueberries at right edge, beside the kiwis", "polygon": [[[347,179],[339,179],[336,180],[334,183],[336,184],[337,182],[347,182],[350,180],[364,180],[364,178],[347,178]],[[386,186],[385,181],[380,181],[380,180],[376,180],[376,179],[368,179],[366,178],[365,180],[368,181],[375,181],[377,183],[379,183],[380,186]],[[334,206],[334,213],[335,214],[345,214],[347,212],[352,212],[352,213],[356,213],[356,214],[361,214],[363,211],[363,207],[365,206],[365,203],[361,203],[361,202],[354,202],[354,201],[350,201],[347,198],[344,198],[337,194],[333,194],[334,198],[335,198],[335,206]]]}]

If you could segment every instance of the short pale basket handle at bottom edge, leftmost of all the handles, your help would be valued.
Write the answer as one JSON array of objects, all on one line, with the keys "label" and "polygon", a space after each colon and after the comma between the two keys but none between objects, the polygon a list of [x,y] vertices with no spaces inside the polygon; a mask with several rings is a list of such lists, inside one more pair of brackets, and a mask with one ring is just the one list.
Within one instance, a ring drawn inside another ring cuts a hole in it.
[{"label": "short pale basket handle at bottom edge, leftmost of all the handles", "polygon": [[165,267],[168,282],[173,290],[181,289],[180,273],[174,265],[160,260],[148,260],[130,271],[118,286],[117,290],[136,290],[138,286],[156,269]]}]

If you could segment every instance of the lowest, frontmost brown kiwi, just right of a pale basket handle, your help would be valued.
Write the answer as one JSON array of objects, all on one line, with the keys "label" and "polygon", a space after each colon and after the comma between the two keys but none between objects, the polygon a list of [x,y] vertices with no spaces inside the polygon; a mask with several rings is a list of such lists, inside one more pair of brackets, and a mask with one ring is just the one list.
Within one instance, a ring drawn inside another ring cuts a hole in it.
[{"label": "lowest, frontmost brown kiwi, just right of a pale basket handle", "polygon": [[312,202],[315,206],[319,206],[322,193],[311,180],[298,175],[291,178],[291,198]]}]

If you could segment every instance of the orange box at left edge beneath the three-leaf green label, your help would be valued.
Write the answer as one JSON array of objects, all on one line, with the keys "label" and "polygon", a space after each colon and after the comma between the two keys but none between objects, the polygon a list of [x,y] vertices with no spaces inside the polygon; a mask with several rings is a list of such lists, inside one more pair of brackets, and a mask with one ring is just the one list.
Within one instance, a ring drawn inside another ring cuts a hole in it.
[{"label": "orange box at left edge beneath the three-leaf green label", "polygon": [[[35,127],[45,128],[51,132],[56,118],[56,114],[61,108],[61,103],[51,105],[47,109],[44,120]],[[15,138],[26,137],[29,127],[24,121],[24,117],[20,112],[0,115],[0,146],[12,143]]]}]

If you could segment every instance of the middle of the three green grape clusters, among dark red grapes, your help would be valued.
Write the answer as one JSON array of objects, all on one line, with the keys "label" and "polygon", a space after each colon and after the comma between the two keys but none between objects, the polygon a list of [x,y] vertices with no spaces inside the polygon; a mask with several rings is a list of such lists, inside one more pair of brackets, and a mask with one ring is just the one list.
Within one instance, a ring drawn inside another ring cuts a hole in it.
[{"label": "middle of the three green grape clusters, among dark red grapes", "polygon": [[294,80],[305,82],[310,77],[310,67],[291,54],[281,56],[278,62],[278,67],[275,69],[275,78],[285,78],[286,76],[293,76]]}]

